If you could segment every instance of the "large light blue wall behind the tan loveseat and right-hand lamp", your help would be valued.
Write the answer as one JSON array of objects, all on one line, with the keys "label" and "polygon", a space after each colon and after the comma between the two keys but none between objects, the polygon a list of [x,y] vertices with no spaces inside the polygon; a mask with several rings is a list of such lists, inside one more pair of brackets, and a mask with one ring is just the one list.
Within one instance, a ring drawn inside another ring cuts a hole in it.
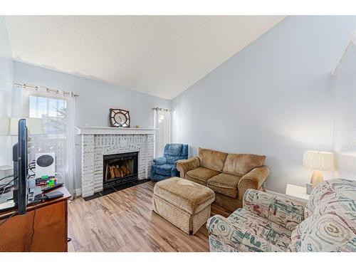
[{"label": "large light blue wall behind the tan loveseat and right-hand lamp", "polygon": [[303,151],[333,150],[330,71],[355,29],[355,16],[288,17],[172,101],[173,141],[266,155],[267,189],[305,185]]}]

